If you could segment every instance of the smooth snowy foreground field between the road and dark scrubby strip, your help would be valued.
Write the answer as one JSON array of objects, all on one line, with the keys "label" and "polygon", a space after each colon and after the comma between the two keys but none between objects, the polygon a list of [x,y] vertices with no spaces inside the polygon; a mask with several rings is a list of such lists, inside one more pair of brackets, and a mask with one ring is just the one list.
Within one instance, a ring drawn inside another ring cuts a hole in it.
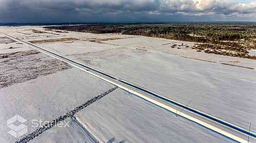
[{"label": "smooth snowy foreground field between the road and dark scrubby strip", "polygon": [[79,112],[76,117],[104,143],[110,138],[115,138],[115,143],[232,142],[121,89]]}]

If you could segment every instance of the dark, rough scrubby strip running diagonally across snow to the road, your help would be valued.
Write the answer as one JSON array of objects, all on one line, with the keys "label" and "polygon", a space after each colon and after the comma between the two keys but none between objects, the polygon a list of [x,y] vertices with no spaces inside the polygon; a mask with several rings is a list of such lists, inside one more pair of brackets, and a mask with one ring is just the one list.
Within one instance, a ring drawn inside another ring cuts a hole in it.
[{"label": "dark, rough scrubby strip running diagonally across snow to the road", "polygon": [[67,113],[65,113],[64,115],[57,117],[56,119],[54,119],[53,121],[46,123],[43,125],[43,127],[37,128],[37,130],[35,130],[32,133],[29,133],[28,135],[26,135],[25,137],[19,139],[18,141],[16,141],[15,143],[27,143],[28,141],[31,141],[33,138],[36,138],[37,136],[39,136],[40,134],[42,134],[43,132],[47,131],[48,129],[54,127],[54,125],[58,124],[61,121],[64,121],[65,119],[67,119],[68,117],[74,117],[75,113],[79,112],[80,110],[84,109],[85,107],[91,105],[93,102],[98,101],[99,99],[101,99],[102,97],[106,96],[107,94],[109,94],[110,92],[113,92],[114,90],[116,90],[118,87],[114,87],[106,92],[101,93],[100,95],[88,100],[87,102],[83,103],[82,105],[75,107],[74,110],[71,110]]}]

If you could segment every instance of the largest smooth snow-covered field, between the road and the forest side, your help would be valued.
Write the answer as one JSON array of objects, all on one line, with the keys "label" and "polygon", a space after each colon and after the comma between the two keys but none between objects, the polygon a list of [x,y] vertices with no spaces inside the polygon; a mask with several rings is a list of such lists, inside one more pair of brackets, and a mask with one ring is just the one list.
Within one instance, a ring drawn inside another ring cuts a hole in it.
[{"label": "largest smooth snow-covered field, between the road and the forest side", "polygon": [[256,123],[253,70],[127,48],[69,57],[243,128]]}]

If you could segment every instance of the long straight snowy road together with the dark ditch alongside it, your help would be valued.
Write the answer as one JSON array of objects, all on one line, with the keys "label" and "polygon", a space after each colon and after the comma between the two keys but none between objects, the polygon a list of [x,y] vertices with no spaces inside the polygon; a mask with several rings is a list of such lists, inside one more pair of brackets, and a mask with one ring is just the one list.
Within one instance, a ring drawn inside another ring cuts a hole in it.
[{"label": "long straight snowy road together with the dark ditch alongside it", "polygon": [[[5,34],[3,32],[0,32],[0,34],[2,34],[4,36],[7,36],[7,37],[9,37],[9,38],[11,38],[11,39],[13,39],[15,41],[21,42],[21,43],[23,43],[23,44],[25,44],[25,45],[27,45],[27,46],[35,49],[35,50],[41,51],[41,52],[43,52],[43,53],[45,53],[45,54],[47,54],[49,56],[52,56],[53,58],[56,58],[56,59],[58,59],[60,61],[63,61],[63,62],[65,62],[65,63],[67,63],[67,64],[69,64],[71,66],[74,66],[74,67],[80,69],[81,71],[87,72],[87,73],[89,73],[89,74],[91,74],[91,75],[93,75],[95,77],[98,77],[98,78],[100,78],[100,79],[102,79],[102,80],[104,80],[106,82],[109,82],[109,83],[111,83],[111,84],[113,84],[113,85],[115,85],[115,86],[117,86],[117,87],[119,87],[119,88],[121,88],[121,89],[123,89],[123,90],[125,90],[127,92],[130,92],[130,93],[132,93],[132,94],[134,94],[134,95],[136,95],[138,97],[141,97],[144,100],[146,100],[148,102],[151,102],[151,103],[153,103],[153,104],[155,104],[157,106],[160,106],[160,107],[162,107],[162,108],[164,108],[164,109],[166,109],[166,110],[168,110],[170,112],[173,112],[175,114],[177,112],[177,109],[175,109],[175,108],[173,108],[173,107],[171,107],[169,105],[166,105],[166,104],[161,102],[163,100],[160,99],[159,97],[161,97],[161,98],[165,98],[165,97],[157,95],[154,92],[150,92],[149,90],[147,90],[147,92],[149,94],[152,93],[152,94],[150,94],[151,96],[157,97],[158,98],[157,100],[152,98],[152,97],[150,97],[149,95],[146,95],[144,93],[139,92],[139,91],[142,91],[142,90],[141,90],[141,88],[138,88],[138,86],[132,85],[132,87],[131,87],[131,84],[130,85],[129,84],[128,85],[125,84],[125,83],[121,82],[120,80],[118,80],[117,77],[113,77],[111,75],[108,75],[107,73],[104,73],[104,72],[101,72],[99,70],[96,70],[96,69],[94,69],[94,68],[92,68],[90,66],[86,66],[86,65],[81,64],[81,63],[79,63],[77,61],[70,60],[70,59],[68,59],[68,58],[66,58],[64,56],[60,56],[60,55],[55,54],[55,53],[53,53],[51,51],[45,50],[45,49],[43,49],[43,48],[41,48],[39,46],[33,45],[33,44],[31,44],[31,43],[29,43],[27,41],[19,40],[19,39],[15,38],[15,37],[7,35],[7,34]],[[155,96],[155,95],[157,95],[157,96]],[[160,101],[158,101],[158,100],[160,100]],[[182,105],[181,103],[172,101],[171,99],[164,100],[164,101],[165,102],[169,101],[168,103],[171,103],[171,105],[175,105],[176,107],[186,107],[185,105]],[[176,104],[173,104],[173,103],[176,103]],[[187,109],[189,109],[189,110],[187,110]],[[208,129],[210,129],[210,130],[212,130],[214,132],[222,134],[225,137],[233,139],[233,140],[235,140],[237,142],[248,143],[247,140],[236,136],[234,133],[229,133],[226,130],[218,128],[217,125],[218,126],[221,125],[224,128],[231,129],[231,130],[233,130],[235,132],[242,133],[242,134],[244,134],[247,137],[250,136],[250,138],[256,138],[256,133],[251,133],[250,131],[248,131],[248,130],[246,130],[244,128],[240,128],[239,126],[236,126],[236,125],[234,125],[232,123],[228,123],[228,122],[226,122],[224,120],[221,120],[221,119],[219,119],[217,117],[213,117],[211,115],[208,115],[207,113],[200,112],[200,111],[198,111],[196,109],[193,109],[191,107],[186,107],[186,110],[189,111],[189,113],[192,113],[193,115],[197,115],[199,117],[203,117],[204,119],[210,121],[211,123],[217,123],[217,124],[215,126],[213,126],[213,125],[211,125],[211,124],[209,124],[209,123],[207,123],[207,122],[205,122],[203,120],[200,120],[200,119],[198,119],[196,117],[192,117],[191,115],[188,115],[187,113],[184,113],[184,112],[181,112],[179,114],[179,116],[187,118],[188,120],[190,120],[192,122],[195,122],[195,123],[197,123],[197,124],[199,124],[199,125],[201,125],[201,126],[203,126],[205,128],[208,128]]]}]

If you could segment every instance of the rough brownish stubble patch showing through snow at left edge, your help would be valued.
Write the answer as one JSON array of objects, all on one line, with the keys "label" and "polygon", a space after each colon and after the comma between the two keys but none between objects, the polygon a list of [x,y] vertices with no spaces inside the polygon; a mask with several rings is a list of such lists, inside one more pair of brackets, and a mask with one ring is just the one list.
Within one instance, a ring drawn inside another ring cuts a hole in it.
[{"label": "rough brownish stubble patch showing through snow at left edge", "polygon": [[0,88],[71,68],[35,50],[10,55],[0,59]]}]

